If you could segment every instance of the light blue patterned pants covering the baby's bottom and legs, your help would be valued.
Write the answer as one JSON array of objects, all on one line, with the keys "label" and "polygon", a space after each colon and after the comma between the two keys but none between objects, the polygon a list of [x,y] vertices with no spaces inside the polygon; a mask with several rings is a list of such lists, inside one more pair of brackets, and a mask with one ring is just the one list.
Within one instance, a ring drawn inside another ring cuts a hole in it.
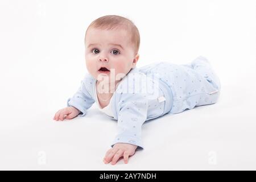
[{"label": "light blue patterned pants covering the baby's bottom and legs", "polygon": [[[189,64],[161,62],[147,69],[147,73],[158,73],[173,96],[169,114],[181,113],[195,106],[217,102],[220,95],[220,80],[214,73],[209,61],[199,56]],[[143,70],[143,68],[142,68]]]}]

